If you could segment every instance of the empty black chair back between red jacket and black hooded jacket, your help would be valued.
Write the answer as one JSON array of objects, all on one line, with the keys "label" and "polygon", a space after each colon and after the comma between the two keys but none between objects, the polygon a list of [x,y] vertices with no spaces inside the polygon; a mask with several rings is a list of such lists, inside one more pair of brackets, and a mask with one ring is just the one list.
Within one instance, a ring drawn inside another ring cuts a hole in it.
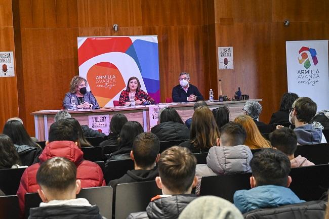
[{"label": "empty black chair back between red jacket and black hooded jacket", "polygon": [[128,170],[132,169],[134,169],[134,161],[132,159],[107,161],[105,164],[104,179],[108,183],[111,180],[119,179]]}]

